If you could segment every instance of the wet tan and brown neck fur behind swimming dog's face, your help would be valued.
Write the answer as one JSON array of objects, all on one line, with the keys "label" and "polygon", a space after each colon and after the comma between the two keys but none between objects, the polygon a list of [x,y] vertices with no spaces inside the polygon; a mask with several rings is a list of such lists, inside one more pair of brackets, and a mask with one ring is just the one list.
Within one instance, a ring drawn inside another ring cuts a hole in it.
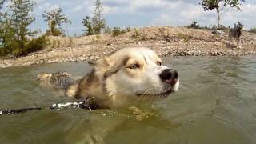
[{"label": "wet tan and brown neck fur behind swimming dog's face", "polygon": [[[85,99],[91,107],[97,109],[126,106],[130,102],[134,102],[134,98],[114,91],[115,84],[107,81],[107,78],[117,73],[118,70],[107,70],[102,74],[99,74],[99,71],[91,70],[78,82],[76,98]],[[109,86],[112,87],[112,91]]]}]

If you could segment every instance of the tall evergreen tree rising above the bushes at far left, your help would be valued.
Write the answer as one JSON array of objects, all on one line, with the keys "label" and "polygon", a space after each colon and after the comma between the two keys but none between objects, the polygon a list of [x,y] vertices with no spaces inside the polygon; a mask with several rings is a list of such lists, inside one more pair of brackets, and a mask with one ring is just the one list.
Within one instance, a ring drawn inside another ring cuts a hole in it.
[{"label": "tall evergreen tree rising above the bushes at far left", "polygon": [[35,20],[34,17],[30,16],[33,6],[34,3],[30,0],[11,0],[11,22],[19,49],[24,49],[28,37],[36,34],[35,31],[29,29],[30,24]]}]

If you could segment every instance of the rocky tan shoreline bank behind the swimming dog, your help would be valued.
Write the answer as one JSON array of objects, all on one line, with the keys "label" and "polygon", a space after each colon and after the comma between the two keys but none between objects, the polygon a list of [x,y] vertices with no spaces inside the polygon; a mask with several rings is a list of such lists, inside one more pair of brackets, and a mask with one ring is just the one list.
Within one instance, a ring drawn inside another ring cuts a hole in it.
[{"label": "rocky tan shoreline bank behind the swimming dog", "polygon": [[230,56],[256,55],[256,34],[244,32],[242,49],[235,49],[227,35],[210,30],[186,27],[154,26],[131,30],[113,37],[111,34],[82,38],[49,37],[50,45],[22,58],[0,58],[0,68],[44,63],[90,61],[130,46],[146,46],[165,56]]}]

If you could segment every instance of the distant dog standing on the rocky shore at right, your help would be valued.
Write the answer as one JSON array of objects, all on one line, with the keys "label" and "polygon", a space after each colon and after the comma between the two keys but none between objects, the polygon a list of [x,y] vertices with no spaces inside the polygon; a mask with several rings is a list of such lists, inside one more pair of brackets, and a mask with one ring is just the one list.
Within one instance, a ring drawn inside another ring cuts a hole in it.
[{"label": "distant dog standing on the rocky shore at right", "polygon": [[238,49],[241,48],[242,28],[242,22],[238,22],[238,24],[234,23],[234,28],[230,29],[229,32],[229,38],[232,41],[232,44],[237,46]]}]

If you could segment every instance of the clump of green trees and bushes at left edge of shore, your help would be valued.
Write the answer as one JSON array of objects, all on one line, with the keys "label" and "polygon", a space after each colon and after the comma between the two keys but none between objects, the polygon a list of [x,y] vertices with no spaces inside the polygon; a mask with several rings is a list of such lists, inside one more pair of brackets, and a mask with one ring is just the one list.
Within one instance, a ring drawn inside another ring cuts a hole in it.
[{"label": "clump of green trees and bushes at left edge of shore", "polygon": [[47,44],[45,36],[31,39],[36,32],[29,29],[34,22],[34,17],[30,16],[34,2],[10,0],[9,6],[4,5],[7,1],[0,0],[0,56],[13,54],[18,57],[42,50]]}]

